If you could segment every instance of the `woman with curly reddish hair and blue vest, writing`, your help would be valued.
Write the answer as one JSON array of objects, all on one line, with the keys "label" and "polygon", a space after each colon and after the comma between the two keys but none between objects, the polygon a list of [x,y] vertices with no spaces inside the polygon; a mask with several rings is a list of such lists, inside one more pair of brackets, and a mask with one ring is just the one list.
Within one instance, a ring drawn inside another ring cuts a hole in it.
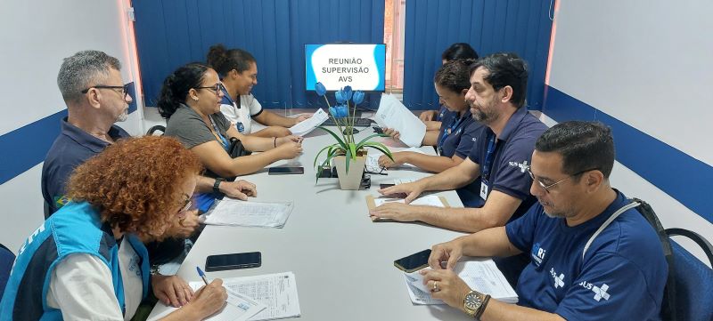
[{"label": "woman with curly reddish hair and blue vest, writing", "polygon": [[[131,319],[150,288],[142,240],[172,237],[168,227],[184,220],[201,170],[178,140],[153,136],[120,140],[80,165],[70,203],[20,248],[0,315]],[[187,303],[165,319],[208,317],[227,297],[220,280],[196,293],[185,286]]]}]

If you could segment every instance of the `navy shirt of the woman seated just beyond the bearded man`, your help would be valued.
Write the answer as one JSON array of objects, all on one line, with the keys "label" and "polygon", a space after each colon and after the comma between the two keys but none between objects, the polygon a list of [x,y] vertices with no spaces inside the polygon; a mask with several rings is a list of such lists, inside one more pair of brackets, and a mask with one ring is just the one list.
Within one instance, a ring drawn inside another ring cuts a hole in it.
[{"label": "navy shirt of the woman seated just beyond the bearded man", "polygon": [[[458,115],[456,112],[448,111],[441,119],[440,132],[438,133],[438,155],[453,157],[459,156],[463,159],[471,152],[473,143],[485,126],[480,124],[471,115],[471,109],[467,109]],[[470,184],[456,189],[458,197],[461,198],[466,207],[481,207],[484,202],[479,197],[480,179]]]}]

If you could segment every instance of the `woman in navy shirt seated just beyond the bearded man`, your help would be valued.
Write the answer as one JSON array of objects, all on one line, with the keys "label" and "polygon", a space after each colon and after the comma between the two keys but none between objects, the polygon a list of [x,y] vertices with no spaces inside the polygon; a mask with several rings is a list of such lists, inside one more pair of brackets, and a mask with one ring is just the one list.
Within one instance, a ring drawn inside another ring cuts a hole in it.
[{"label": "woman in navy shirt seated just beyond the bearded man", "polygon": [[[438,131],[435,144],[438,156],[401,151],[393,153],[393,161],[387,156],[381,156],[379,165],[391,167],[408,163],[429,172],[441,173],[463,162],[483,129],[483,125],[472,118],[471,109],[465,102],[465,92],[471,88],[469,66],[469,60],[451,60],[439,68],[434,77],[438,102],[449,111]],[[463,205],[482,205],[479,186],[480,182],[476,180],[456,190]]]}]

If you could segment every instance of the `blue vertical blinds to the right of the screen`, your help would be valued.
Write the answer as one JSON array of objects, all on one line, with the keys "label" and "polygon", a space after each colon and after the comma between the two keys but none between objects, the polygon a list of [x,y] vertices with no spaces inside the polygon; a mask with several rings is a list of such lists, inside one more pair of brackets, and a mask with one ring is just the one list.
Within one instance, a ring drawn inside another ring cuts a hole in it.
[{"label": "blue vertical blinds to the right of the screen", "polygon": [[516,52],[529,63],[528,108],[541,109],[552,20],[550,0],[408,0],[404,103],[438,106],[433,75],[450,44],[468,43],[480,56]]}]

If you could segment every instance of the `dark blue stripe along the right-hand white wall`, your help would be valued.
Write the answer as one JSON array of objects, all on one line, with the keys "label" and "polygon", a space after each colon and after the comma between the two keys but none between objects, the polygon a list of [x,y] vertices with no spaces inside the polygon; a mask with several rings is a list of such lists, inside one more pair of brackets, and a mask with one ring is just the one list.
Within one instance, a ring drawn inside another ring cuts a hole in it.
[{"label": "dark blue stripe along the right-hand white wall", "polygon": [[545,86],[543,113],[557,122],[597,120],[611,126],[619,163],[713,223],[713,166],[554,87]]}]

